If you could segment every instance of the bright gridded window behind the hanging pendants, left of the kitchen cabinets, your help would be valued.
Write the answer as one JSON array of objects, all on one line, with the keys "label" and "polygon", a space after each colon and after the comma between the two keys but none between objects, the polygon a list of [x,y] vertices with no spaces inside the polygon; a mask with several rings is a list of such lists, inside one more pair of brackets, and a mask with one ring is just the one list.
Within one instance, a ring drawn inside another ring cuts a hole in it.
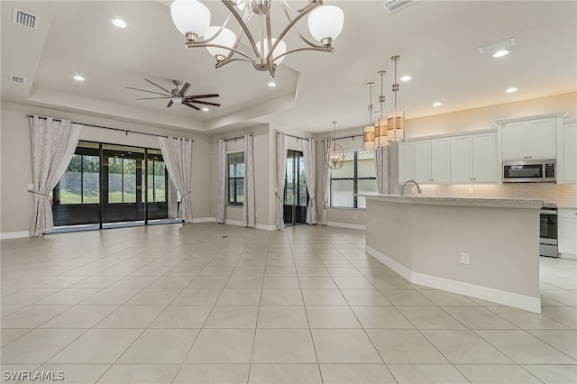
[{"label": "bright gridded window behind the hanging pendants, left of the kitchen cabinets", "polygon": [[334,169],[331,176],[331,206],[365,208],[364,197],[357,194],[377,193],[373,151],[344,153],[343,167]]}]

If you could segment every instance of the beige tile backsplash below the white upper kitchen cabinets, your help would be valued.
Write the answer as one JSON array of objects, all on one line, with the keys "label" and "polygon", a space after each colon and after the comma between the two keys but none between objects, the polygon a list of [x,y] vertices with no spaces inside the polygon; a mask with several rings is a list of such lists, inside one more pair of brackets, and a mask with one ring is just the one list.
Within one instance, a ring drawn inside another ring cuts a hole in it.
[{"label": "beige tile backsplash below the white upper kitchen cabinets", "polygon": [[511,183],[421,187],[423,194],[428,196],[538,198],[557,206],[577,207],[577,184]]}]

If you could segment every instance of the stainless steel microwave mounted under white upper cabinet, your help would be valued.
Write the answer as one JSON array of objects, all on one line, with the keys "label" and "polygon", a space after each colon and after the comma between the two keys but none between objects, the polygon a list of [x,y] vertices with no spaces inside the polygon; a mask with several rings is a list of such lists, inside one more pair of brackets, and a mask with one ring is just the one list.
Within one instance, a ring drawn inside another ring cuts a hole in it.
[{"label": "stainless steel microwave mounted under white upper cabinet", "polygon": [[554,183],[556,172],[555,160],[503,161],[504,183]]}]

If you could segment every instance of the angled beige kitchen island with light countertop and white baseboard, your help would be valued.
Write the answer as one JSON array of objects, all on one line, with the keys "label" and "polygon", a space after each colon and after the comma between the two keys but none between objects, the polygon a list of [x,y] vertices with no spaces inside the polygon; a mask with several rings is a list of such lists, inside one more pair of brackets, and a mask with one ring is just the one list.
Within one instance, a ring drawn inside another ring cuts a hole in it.
[{"label": "angled beige kitchen island with light countertop and white baseboard", "polygon": [[363,196],[366,251],[403,278],[541,313],[542,200]]}]

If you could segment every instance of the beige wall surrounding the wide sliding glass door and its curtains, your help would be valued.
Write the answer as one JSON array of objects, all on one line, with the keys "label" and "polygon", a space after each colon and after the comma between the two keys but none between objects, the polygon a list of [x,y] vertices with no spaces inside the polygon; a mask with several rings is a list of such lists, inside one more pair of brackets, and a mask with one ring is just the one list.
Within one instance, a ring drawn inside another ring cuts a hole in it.
[{"label": "beige wall surrounding the wide sliding glass door and its curtains", "polygon": [[[109,126],[143,133],[167,134],[190,138],[192,146],[192,198],[193,215],[196,218],[212,217],[210,212],[210,138],[195,133],[170,131],[154,126],[143,126],[83,114],[72,114],[29,105],[2,103],[1,105],[1,185],[0,185],[0,233],[28,231],[32,216],[32,194],[27,192],[32,183],[32,152],[30,126],[26,114],[40,114],[69,119],[78,123]],[[86,126],[80,140],[111,142],[139,147],[159,148],[155,137],[114,132]]]}]

